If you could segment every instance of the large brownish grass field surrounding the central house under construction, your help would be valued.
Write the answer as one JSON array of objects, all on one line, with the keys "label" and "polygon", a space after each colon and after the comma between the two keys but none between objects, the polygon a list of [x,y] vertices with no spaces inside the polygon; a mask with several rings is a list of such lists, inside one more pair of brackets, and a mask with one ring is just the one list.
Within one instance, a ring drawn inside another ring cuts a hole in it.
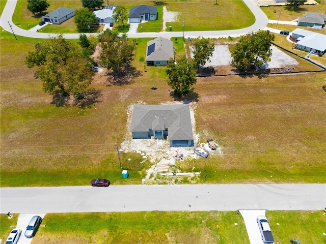
[{"label": "large brownish grass field surrounding the central house under construction", "polygon": [[[42,92],[41,81],[24,64],[41,40],[19,40],[1,36],[1,185],[88,185],[104,176],[112,184],[140,184],[149,163],[141,164],[138,154],[121,154],[130,171],[123,179],[115,148],[129,130],[127,107],[175,100],[165,68],[144,69],[149,39],[138,41],[133,65],[139,73],[114,85],[99,74],[93,101],[84,106],[59,106]],[[181,40],[175,46],[181,53]],[[181,162],[180,169],[199,170],[199,182],[210,183],[325,182],[324,78],[324,73],[199,78],[187,98],[196,102],[196,131],[201,142],[219,140],[224,155]]]}]

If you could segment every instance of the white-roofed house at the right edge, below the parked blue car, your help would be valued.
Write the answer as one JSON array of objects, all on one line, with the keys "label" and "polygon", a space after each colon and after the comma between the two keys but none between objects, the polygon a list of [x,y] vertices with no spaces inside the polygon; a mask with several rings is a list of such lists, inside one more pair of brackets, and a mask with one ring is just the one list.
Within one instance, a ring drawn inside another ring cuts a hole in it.
[{"label": "white-roofed house at the right edge, below the parked blue car", "polygon": [[298,41],[296,48],[306,49],[313,54],[326,52],[326,35],[296,28],[291,37]]}]

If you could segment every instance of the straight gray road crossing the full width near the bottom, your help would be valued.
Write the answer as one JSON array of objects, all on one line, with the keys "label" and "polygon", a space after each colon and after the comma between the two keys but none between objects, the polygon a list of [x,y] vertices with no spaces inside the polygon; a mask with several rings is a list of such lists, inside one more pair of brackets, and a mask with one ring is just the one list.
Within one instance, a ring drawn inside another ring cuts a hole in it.
[{"label": "straight gray road crossing the full width near the bottom", "polygon": [[1,188],[1,213],[318,210],[325,184]]}]

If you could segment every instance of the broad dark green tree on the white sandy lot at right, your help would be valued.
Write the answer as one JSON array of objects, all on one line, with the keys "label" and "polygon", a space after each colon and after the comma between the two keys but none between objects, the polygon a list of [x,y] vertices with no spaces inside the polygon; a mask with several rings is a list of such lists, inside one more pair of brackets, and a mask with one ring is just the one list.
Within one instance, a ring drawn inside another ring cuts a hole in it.
[{"label": "broad dark green tree on the white sandy lot at right", "polygon": [[270,61],[271,41],[275,36],[269,31],[260,31],[242,36],[239,41],[230,48],[233,60],[231,65],[240,71],[254,69]]}]

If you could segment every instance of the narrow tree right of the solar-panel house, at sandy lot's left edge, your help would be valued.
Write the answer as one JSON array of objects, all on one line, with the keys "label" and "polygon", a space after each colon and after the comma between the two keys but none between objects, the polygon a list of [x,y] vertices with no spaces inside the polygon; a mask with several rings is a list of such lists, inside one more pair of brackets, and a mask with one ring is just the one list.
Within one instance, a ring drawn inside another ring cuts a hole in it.
[{"label": "narrow tree right of the solar-panel house, at sandy lot's left edge", "polygon": [[205,65],[206,61],[213,56],[213,51],[215,46],[213,43],[209,43],[209,39],[198,38],[194,42],[194,62],[197,72],[199,71],[199,66]]}]

